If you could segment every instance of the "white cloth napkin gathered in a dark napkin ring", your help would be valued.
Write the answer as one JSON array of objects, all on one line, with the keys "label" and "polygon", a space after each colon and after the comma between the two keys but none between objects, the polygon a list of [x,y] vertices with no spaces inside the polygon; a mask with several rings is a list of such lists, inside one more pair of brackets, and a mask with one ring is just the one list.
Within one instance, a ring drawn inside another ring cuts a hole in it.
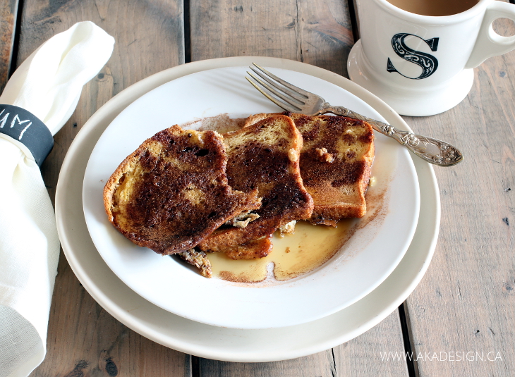
[{"label": "white cloth napkin gathered in a dark napkin ring", "polygon": [[[94,23],[73,25],[16,70],[0,104],[22,107],[52,135],[77,106],[83,85],[107,62],[114,38]],[[47,352],[59,260],[52,202],[40,168],[10,137],[0,138],[0,376],[28,376]]]}]

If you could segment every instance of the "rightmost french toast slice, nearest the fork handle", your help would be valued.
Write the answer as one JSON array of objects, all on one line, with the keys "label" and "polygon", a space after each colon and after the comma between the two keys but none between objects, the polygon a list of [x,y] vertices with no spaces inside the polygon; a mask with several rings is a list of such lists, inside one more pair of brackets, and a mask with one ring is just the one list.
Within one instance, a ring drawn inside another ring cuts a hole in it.
[{"label": "rightmost french toast slice, nearest the fork handle", "polygon": [[[372,126],[344,116],[285,114],[303,137],[301,176],[315,203],[308,221],[336,226],[343,218],[365,216],[365,192],[375,153]],[[251,116],[245,126],[271,115]]]}]

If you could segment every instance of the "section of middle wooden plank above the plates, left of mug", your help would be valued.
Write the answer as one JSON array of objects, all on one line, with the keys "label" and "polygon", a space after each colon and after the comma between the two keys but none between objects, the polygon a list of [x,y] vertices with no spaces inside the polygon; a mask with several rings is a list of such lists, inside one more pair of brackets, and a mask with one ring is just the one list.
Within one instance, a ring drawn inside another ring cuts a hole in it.
[{"label": "section of middle wooden plank above the plates, left of mug", "polygon": [[346,1],[192,0],[191,60],[273,56],[346,75],[353,45]]}]

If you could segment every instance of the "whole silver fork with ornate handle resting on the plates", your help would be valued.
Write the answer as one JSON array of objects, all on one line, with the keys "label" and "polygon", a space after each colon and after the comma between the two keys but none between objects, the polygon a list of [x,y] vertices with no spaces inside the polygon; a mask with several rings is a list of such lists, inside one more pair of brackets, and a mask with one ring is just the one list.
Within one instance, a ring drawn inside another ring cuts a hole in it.
[{"label": "whole silver fork with ornate handle resting on the plates", "polygon": [[[277,106],[292,113],[303,113],[307,116],[317,116],[325,113],[334,113],[339,116],[348,116],[358,120],[365,120],[372,128],[383,135],[392,137],[421,159],[438,166],[453,166],[463,161],[464,157],[458,149],[442,140],[432,137],[416,135],[412,132],[401,131],[387,123],[362,116],[344,106],[331,106],[317,94],[307,92],[300,87],[269,73],[265,68],[253,63],[250,67],[253,73],[247,72],[253,80],[246,77],[248,82],[261,92],[267,99]],[[259,76],[259,77],[258,77]],[[273,97],[271,94],[274,94]]]}]

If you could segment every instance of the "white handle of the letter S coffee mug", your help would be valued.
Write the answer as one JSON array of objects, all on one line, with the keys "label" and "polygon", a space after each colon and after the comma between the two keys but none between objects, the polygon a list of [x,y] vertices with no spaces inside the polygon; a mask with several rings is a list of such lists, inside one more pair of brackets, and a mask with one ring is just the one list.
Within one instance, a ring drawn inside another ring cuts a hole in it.
[{"label": "white handle of the letter S coffee mug", "polygon": [[475,68],[487,58],[505,54],[515,49],[515,35],[503,37],[498,35],[492,27],[497,18],[509,18],[515,22],[515,5],[503,1],[492,1],[485,11],[478,39],[475,41],[471,56],[465,68]]}]

